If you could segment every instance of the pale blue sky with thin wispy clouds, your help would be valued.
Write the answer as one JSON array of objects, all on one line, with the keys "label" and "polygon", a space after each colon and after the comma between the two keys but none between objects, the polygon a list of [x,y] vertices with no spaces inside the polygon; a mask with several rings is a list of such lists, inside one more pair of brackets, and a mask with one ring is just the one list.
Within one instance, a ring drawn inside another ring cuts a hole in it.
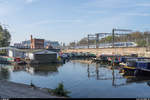
[{"label": "pale blue sky with thin wispy clouds", "polygon": [[69,43],[113,28],[150,30],[150,0],[0,0],[11,43],[35,38]]}]

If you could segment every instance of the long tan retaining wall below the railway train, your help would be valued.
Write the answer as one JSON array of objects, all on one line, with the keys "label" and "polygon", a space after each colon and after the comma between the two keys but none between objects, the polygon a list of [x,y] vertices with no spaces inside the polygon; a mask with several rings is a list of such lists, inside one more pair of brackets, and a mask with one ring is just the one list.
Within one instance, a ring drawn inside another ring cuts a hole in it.
[{"label": "long tan retaining wall below the railway train", "polygon": [[120,55],[130,55],[138,54],[142,57],[150,57],[150,47],[122,47],[122,48],[91,48],[91,49],[67,49],[63,52],[90,52],[96,55],[100,54],[120,54]]}]

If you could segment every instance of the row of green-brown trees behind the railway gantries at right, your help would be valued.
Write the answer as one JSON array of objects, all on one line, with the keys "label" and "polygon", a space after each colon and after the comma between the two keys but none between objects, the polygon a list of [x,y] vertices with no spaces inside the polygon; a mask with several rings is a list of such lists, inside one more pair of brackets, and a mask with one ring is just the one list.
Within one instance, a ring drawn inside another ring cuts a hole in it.
[{"label": "row of green-brown trees behind the railway gantries at right", "polygon": [[[98,43],[112,43],[113,41],[113,37],[112,35],[110,36],[106,36],[104,38],[101,38]],[[95,45],[96,43],[96,39],[89,39],[85,37],[82,38],[79,42],[75,43],[75,42],[71,42],[70,46],[75,46],[75,44],[77,44],[78,46],[85,46],[88,43],[90,45]],[[145,47],[145,46],[150,46],[150,31],[146,31],[146,32],[140,32],[140,31],[136,31],[136,32],[132,32],[130,34],[124,34],[124,35],[115,35],[114,36],[114,42],[135,42],[138,46],[140,47]]]}]

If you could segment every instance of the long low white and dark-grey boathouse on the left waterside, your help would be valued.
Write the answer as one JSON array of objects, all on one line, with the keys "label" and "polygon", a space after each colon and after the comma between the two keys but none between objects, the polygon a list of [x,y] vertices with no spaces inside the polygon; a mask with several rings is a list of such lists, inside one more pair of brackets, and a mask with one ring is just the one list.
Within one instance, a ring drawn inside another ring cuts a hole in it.
[{"label": "long low white and dark-grey boathouse on the left waterside", "polygon": [[23,50],[17,48],[8,49],[9,57],[28,58],[30,61],[38,63],[57,62],[58,53],[45,49],[39,50]]}]

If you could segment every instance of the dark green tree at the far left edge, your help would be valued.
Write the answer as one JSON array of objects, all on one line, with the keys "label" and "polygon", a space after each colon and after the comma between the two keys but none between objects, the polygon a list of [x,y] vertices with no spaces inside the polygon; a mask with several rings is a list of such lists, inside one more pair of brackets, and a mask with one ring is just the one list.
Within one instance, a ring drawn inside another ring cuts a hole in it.
[{"label": "dark green tree at the far left edge", "polygon": [[7,29],[4,29],[0,25],[0,47],[6,47],[10,45],[11,35]]}]

